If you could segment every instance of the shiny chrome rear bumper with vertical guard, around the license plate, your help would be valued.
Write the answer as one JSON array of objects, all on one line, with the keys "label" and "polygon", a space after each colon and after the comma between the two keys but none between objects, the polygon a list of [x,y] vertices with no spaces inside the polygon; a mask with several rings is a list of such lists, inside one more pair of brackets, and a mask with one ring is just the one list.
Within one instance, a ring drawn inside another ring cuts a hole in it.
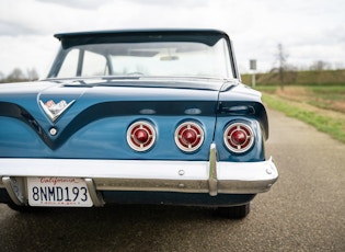
[{"label": "shiny chrome rear bumper with vertical guard, around the license plate", "polygon": [[273,159],[262,162],[219,162],[216,146],[209,161],[0,159],[0,187],[13,202],[25,204],[27,176],[83,177],[95,206],[100,191],[257,194],[278,179]]}]

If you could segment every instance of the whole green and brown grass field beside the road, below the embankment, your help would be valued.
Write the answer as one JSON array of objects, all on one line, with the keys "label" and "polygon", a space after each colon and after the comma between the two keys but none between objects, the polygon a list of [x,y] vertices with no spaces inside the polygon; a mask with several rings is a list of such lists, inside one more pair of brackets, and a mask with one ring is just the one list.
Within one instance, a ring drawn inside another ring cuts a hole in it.
[{"label": "whole green and brown grass field beside the road, below the embankment", "polygon": [[264,103],[345,142],[345,84],[257,87]]}]

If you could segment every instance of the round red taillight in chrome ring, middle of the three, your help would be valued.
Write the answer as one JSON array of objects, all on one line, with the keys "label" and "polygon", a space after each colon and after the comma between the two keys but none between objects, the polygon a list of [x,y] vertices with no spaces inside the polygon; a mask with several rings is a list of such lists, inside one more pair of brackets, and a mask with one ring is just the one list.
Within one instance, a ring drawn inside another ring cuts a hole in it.
[{"label": "round red taillight in chrome ring, middle of the three", "polygon": [[194,122],[185,122],[175,130],[175,142],[183,151],[195,151],[204,142],[204,130]]}]

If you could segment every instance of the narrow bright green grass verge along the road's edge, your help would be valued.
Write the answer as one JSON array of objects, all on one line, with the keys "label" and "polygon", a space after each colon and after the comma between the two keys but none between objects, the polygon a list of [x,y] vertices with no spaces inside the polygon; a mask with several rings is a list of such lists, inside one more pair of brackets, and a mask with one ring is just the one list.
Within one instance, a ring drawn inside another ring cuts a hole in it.
[{"label": "narrow bright green grass verge along the road's edge", "polygon": [[304,106],[296,105],[296,103],[272,94],[264,94],[263,101],[268,107],[310,124],[320,131],[326,133],[334,139],[345,144],[345,119],[343,117],[334,118],[327,114],[321,114]]}]

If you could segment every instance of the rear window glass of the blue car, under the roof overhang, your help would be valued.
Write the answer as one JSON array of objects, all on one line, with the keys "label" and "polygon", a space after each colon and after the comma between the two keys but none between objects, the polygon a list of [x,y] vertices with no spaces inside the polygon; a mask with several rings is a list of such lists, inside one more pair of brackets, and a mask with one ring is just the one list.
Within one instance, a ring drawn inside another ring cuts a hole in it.
[{"label": "rear window glass of the blue car, under the roof overhang", "polygon": [[93,43],[61,48],[49,77],[233,78],[228,43]]}]

